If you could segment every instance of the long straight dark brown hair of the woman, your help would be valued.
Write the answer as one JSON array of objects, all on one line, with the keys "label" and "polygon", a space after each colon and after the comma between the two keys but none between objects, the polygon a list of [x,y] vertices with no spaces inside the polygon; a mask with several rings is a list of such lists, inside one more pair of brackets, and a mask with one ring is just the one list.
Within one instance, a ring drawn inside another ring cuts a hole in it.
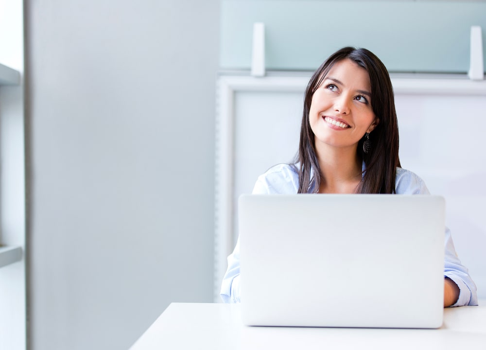
[{"label": "long straight dark brown hair of the woman", "polygon": [[309,123],[309,110],[315,90],[332,66],[344,59],[350,59],[368,72],[371,85],[371,106],[380,121],[369,134],[371,150],[368,153],[363,152],[364,138],[358,143],[358,155],[363,158],[366,169],[356,193],[395,193],[395,176],[397,167],[400,167],[399,134],[390,76],[382,61],[374,53],[353,47],[345,47],[330,55],[312,74],[307,85],[300,128],[299,152],[296,157],[299,162],[298,193],[317,193],[319,191],[321,171],[315,152],[314,134]]}]

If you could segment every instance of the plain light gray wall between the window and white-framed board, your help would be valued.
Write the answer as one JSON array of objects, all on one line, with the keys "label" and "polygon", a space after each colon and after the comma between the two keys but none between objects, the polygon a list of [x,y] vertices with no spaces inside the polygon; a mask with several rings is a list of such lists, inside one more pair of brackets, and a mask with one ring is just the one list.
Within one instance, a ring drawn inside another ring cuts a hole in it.
[{"label": "plain light gray wall between the window and white-framed board", "polygon": [[219,0],[26,0],[29,348],[212,301]]}]

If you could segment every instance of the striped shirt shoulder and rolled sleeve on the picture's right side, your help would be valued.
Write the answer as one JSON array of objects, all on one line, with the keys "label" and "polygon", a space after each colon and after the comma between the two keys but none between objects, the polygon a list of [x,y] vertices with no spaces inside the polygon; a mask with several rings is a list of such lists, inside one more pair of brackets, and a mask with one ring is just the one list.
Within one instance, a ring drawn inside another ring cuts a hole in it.
[{"label": "striped shirt shoulder and rolled sleeve on the picture's right side", "polygon": [[[424,181],[404,169],[397,171],[396,191],[399,194],[430,194]],[[445,231],[444,277],[454,281],[459,287],[459,297],[451,306],[478,305],[477,288],[469,276],[469,271],[459,260],[452,242],[451,230]]]}]

